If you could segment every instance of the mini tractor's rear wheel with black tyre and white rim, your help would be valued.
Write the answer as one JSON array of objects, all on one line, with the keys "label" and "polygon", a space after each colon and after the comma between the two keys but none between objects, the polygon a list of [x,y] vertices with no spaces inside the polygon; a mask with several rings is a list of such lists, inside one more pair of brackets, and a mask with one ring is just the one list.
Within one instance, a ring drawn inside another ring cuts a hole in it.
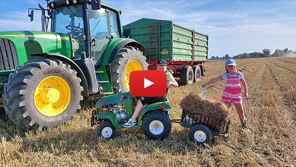
[{"label": "mini tractor's rear wheel with black tyre and white rim", "polygon": [[150,139],[165,139],[171,132],[172,123],[169,117],[160,111],[148,113],[142,122],[143,133]]}]

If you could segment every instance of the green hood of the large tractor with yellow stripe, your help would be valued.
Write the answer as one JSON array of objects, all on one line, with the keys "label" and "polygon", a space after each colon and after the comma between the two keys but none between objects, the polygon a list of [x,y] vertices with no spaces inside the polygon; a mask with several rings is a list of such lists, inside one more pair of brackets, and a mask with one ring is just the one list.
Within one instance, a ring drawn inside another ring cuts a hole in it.
[{"label": "green hood of the large tractor with yellow stripe", "polygon": [[23,65],[27,60],[35,59],[36,57],[31,56],[34,53],[53,52],[69,58],[72,56],[70,36],[63,33],[42,31],[0,32],[0,45],[1,51],[5,50],[9,60],[9,56],[12,56],[12,60],[17,57],[17,65]]}]

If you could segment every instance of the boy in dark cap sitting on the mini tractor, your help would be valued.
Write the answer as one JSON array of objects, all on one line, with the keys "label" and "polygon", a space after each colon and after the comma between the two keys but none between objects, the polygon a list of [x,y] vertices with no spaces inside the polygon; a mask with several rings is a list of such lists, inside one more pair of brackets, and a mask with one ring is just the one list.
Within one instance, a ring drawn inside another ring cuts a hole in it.
[{"label": "boy in dark cap sitting on the mini tractor", "polygon": [[[158,60],[156,67],[157,67],[158,71],[166,72],[166,70],[167,70],[167,62],[165,60]],[[169,86],[170,85],[172,85],[173,87],[178,86],[178,83],[176,82],[176,80],[174,79],[173,75],[170,72],[166,72],[166,76],[167,76],[167,91],[166,91],[166,94],[164,96],[160,96],[160,97],[140,97],[139,100],[136,102],[137,106],[136,106],[136,109],[135,109],[135,112],[134,112],[133,116],[125,124],[123,124],[124,127],[132,127],[133,125],[136,125],[137,124],[137,118],[140,115],[140,112],[143,109],[145,104],[151,103],[151,102],[156,103],[156,102],[164,101],[166,99]]]}]

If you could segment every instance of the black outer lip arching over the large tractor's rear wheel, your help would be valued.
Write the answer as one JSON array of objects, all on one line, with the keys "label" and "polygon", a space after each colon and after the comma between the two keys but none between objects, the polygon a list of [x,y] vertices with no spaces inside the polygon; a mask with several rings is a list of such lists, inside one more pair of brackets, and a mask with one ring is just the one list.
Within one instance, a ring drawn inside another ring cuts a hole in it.
[{"label": "black outer lip arching over the large tractor's rear wheel", "polygon": [[116,46],[113,48],[113,50],[110,54],[110,58],[108,60],[108,64],[110,64],[115,59],[115,57],[119,53],[120,49],[122,49],[122,47],[124,47],[126,45],[138,47],[141,51],[143,51],[143,55],[147,56],[147,51],[146,51],[145,47],[140,42],[137,42],[132,39],[125,39],[125,40],[118,42],[116,44]]}]

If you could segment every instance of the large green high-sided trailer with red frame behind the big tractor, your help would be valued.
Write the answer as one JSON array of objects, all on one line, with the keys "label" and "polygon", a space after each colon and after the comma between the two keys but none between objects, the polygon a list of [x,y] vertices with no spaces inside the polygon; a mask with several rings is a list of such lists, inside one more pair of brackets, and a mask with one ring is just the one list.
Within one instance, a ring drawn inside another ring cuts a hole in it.
[{"label": "large green high-sided trailer with red frame behind the big tractor", "polygon": [[208,35],[170,20],[149,18],[123,26],[123,34],[144,45],[148,53],[148,70],[156,70],[157,60],[164,59],[182,85],[199,82],[204,76],[205,69],[201,64],[208,60]]}]

